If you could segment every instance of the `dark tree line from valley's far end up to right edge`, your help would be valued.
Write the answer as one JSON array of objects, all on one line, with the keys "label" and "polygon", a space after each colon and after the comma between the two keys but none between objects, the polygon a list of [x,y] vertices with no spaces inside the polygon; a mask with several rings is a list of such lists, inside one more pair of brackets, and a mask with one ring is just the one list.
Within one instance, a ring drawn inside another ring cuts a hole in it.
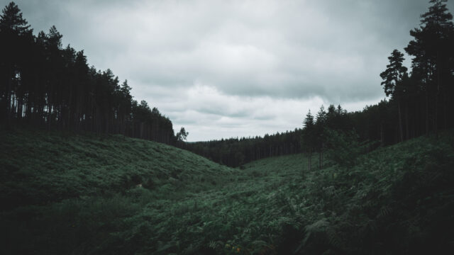
[{"label": "dark tree line from valley's far end up to right edge", "polygon": [[[302,129],[265,137],[188,143],[187,149],[229,166],[305,152],[309,159],[318,154],[321,167],[323,152],[333,152],[333,147],[342,142],[355,143],[367,151],[421,135],[437,136],[439,130],[454,128],[454,26],[446,1],[431,0],[419,27],[410,31],[411,40],[404,48],[411,57],[410,72],[403,65],[404,54],[391,52],[389,64],[380,74],[386,95],[380,103],[351,113],[341,106],[328,106],[327,111],[321,106],[316,115],[309,111]],[[342,150],[350,152],[351,148]],[[309,167],[312,165],[309,161]]]}]

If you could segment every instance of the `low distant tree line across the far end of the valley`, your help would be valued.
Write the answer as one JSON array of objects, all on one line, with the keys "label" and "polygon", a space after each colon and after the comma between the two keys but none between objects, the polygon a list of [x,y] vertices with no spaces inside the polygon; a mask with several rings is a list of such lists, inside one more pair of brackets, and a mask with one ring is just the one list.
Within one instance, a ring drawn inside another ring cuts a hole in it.
[{"label": "low distant tree line across the far end of the valley", "polygon": [[[308,120],[309,118],[309,120]],[[311,124],[306,123],[309,121]],[[308,128],[295,128],[292,131],[277,132],[273,135],[256,137],[242,137],[211,140],[208,142],[186,142],[180,144],[184,149],[199,154],[203,157],[225,164],[227,166],[240,166],[266,157],[277,157],[301,152],[318,152],[322,145],[321,133],[327,127],[333,130],[351,130],[353,128],[352,114],[341,106],[328,106],[325,111],[323,106],[317,115],[309,112],[304,123],[311,125],[314,132]],[[321,154],[321,159],[323,155]]]}]

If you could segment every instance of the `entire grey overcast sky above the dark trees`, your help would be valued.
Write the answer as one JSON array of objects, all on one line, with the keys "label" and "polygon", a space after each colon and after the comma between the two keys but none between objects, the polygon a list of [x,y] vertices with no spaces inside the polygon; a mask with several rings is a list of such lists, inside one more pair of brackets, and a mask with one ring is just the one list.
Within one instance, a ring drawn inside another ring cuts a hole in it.
[{"label": "entire grey overcast sky above the dark trees", "polygon": [[135,99],[157,107],[175,132],[184,126],[189,141],[294,130],[322,104],[377,103],[387,57],[404,51],[428,9],[428,0],[16,4],[35,33],[55,25],[65,46],[128,79]]}]

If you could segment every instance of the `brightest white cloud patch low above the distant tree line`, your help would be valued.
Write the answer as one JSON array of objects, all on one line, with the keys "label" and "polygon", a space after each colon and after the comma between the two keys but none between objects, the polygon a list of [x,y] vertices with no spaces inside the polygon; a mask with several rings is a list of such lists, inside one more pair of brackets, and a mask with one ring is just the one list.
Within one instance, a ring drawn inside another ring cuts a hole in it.
[{"label": "brightest white cloud patch low above the distant tree line", "polygon": [[[349,111],[361,110],[377,101],[350,102]],[[214,86],[194,84],[177,101],[162,105],[167,108],[175,127],[190,131],[189,141],[249,137],[271,132],[301,128],[307,111],[328,106],[319,96],[307,100],[272,98],[270,96],[233,96],[223,94]],[[185,106],[192,106],[182,111]],[[270,130],[272,130],[270,132]]]}]

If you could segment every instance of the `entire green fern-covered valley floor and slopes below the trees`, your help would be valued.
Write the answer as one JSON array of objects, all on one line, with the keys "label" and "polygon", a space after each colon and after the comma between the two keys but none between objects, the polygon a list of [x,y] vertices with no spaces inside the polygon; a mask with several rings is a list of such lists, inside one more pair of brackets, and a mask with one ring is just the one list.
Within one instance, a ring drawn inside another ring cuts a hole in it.
[{"label": "entire green fern-covered valley floor and slopes below the trees", "polygon": [[1,199],[9,201],[1,249],[14,254],[384,254],[453,245],[451,134],[312,172],[301,154],[239,170],[119,136],[0,138]]}]

